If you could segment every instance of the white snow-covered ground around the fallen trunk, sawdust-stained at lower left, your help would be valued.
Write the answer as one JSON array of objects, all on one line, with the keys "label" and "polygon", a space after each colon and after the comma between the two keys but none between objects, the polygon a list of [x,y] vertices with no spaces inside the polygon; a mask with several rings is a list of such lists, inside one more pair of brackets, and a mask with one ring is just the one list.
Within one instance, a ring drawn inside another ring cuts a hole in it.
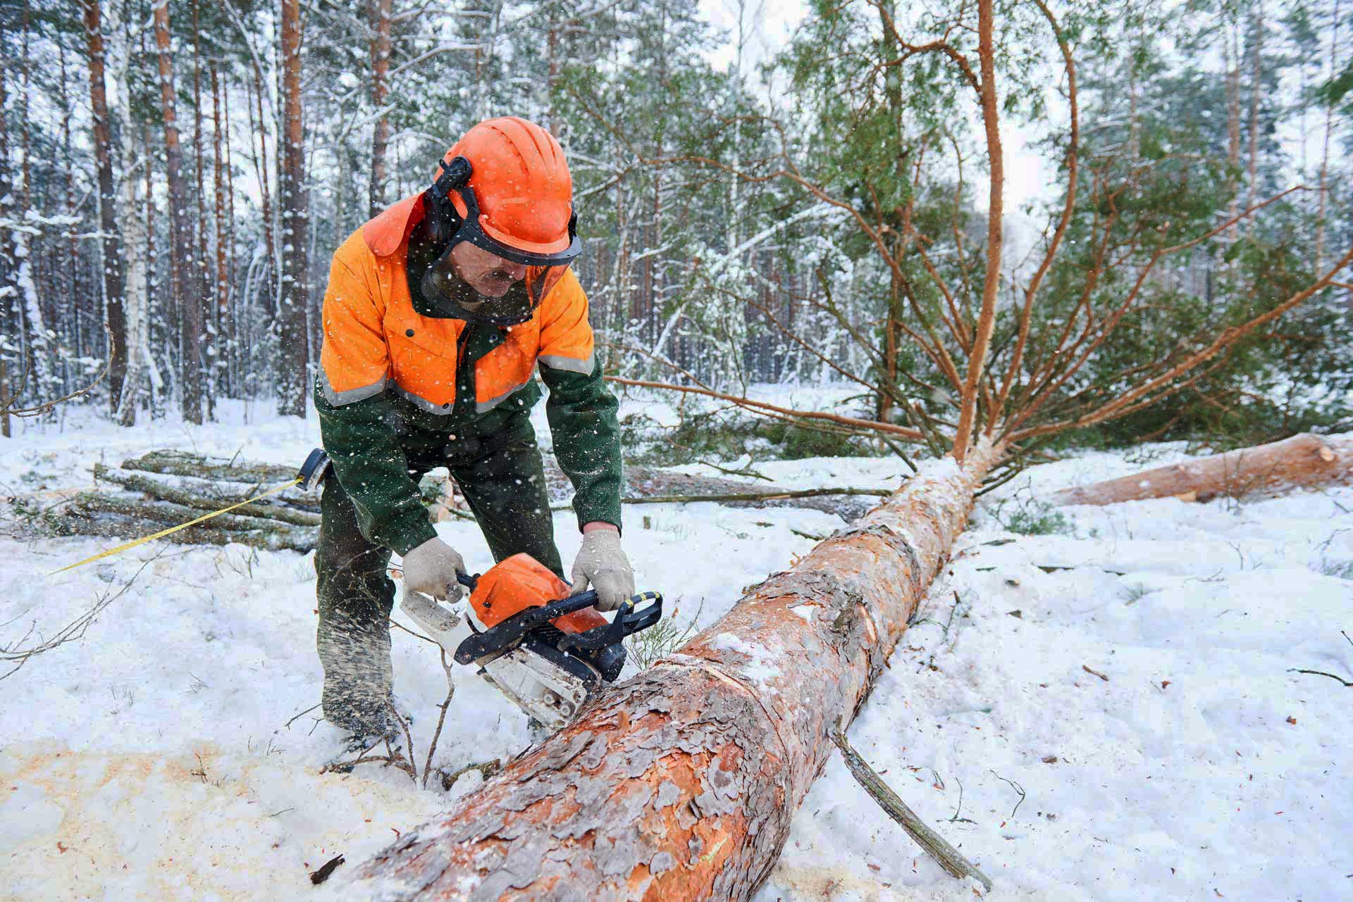
[{"label": "white snow-covered ground around the fallen trunk, sawdust-stained at lower left", "polygon": [[[0,492],[84,485],[93,461],[150,448],[296,462],[317,444],[313,419],[225,417],[129,433],[73,412],[64,430],[0,440]],[[1046,518],[1036,499],[1057,487],[1180,454],[1149,450],[1043,465],[984,499],[851,740],[994,879],[988,898],[1350,898],[1353,695],[1289,668],[1353,680],[1339,633],[1353,633],[1353,490],[1066,508],[1043,536],[1003,526]],[[904,472],[867,458],[756,469],[794,485]],[[714,504],[625,517],[640,588],[662,590],[682,625],[710,623],[842,525]],[[491,563],[474,526],[438,530],[472,568]],[[571,560],[571,514],[556,531]],[[478,784],[476,772],[451,792],[392,768],[319,774],[338,733],[302,714],[321,676],[307,556],[150,545],[47,576],[103,546],[0,537],[0,644],[126,588],[81,641],[0,682],[0,899],[306,898],[308,871],[361,860]],[[421,768],[445,679],[399,630],[394,655]],[[456,687],[436,765],[526,745],[525,717],[468,668]],[[833,757],[758,902],[970,899],[974,886],[944,875]]]}]

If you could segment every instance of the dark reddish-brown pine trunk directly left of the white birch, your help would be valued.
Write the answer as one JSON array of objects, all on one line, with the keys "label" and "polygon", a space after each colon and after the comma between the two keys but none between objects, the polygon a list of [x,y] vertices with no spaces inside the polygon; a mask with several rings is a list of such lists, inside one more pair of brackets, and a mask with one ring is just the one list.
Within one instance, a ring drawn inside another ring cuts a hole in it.
[{"label": "dark reddish-brown pine trunk directly left of the white birch", "polygon": [[[99,169],[99,231],[103,234],[104,316],[108,326],[108,407],[118,411],[127,377],[127,316],[122,306],[122,249],[118,238],[116,197],[112,193],[112,138],[108,131],[108,95],[104,87],[103,31],[99,0],[84,0],[89,39],[89,105],[93,111],[93,154]],[[129,176],[130,177],[130,176]]]}]

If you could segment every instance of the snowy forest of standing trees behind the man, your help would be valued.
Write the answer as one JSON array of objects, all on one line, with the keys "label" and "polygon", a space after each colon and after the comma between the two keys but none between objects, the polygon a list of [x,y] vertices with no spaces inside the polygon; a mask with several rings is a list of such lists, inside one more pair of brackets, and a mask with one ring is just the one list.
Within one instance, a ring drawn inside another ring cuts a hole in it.
[{"label": "snowy forest of standing trees behind the man", "polygon": [[[767,54],[775,11],[739,0],[727,28],[667,0],[4,0],[0,426],[60,417],[61,399],[124,426],[202,422],[225,399],[304,415],[333,249],[426,187],[471,124],[522,115],[570,156],[609,373],[732,399],[844,381],[858,419],[935,435],[957,406],[944,345],[958,356],[976,319],[989,166],[961,68],[898,35],[951,28],[963,5],[813,0]],[[1034,342],[1128,285],[1137,300],[1034,398],[1077,423],[1353,245],[1353,3],[1062,3],[1061,35],[1035,5],[996,4],[1001,118],[1047,183],[1007,200],[989,369],[1013,360],[1038,383],[1034,349],[1012,352],[1019,284],[1074,142],[1081,189],[1035,276]],[[1076,134],[1057,37],[1076,51]],[[1227,222],[1158,264],[1142,239]],[[1353,429],[1350,283],[1160,403],[1047,441]],[[714,421],[666,448],[901,450],[858,422]]]}]

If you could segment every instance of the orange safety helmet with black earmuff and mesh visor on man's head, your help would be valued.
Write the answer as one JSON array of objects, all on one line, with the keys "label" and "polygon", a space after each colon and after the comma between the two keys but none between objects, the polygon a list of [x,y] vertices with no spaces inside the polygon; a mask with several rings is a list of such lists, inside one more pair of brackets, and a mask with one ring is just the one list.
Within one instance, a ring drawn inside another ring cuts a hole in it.
[{"label": "orange safety helmet with black earmuff and mesh visor on man's head", "polygon": [[[582,252],[564,151],[548,131],[517,116],[467,131],[442,157],[423,208],[428,235],[441,247],[422,279],[423,295],[469,322],[526,322]],[[526,266],[522,283],[501,298],[474,292],[451,257],[467,241]]]}]

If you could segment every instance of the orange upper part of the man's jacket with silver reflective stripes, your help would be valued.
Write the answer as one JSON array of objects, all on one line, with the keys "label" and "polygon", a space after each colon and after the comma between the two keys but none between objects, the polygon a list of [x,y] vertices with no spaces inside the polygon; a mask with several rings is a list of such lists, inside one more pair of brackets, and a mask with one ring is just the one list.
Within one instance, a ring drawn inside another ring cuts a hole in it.
[{"label": "orange upper part of the man's jacket with silver reflective stripes", "polygon": [[[449,415],[456,404],[459,338],[467,323],[414,310],[407,230],[400,230],[406,233],[402,239],[399,233],[391,238],[388,229],[379,227],[384,215],[334,252],[323,303],[321,387],[336,407],[390,388],[430,414]],[[503,341],[475,361],[475,411],[491,410],[522,388],[537,362],[593,372],[587,295],[572,270],[528,322],[505,330]]]}]

